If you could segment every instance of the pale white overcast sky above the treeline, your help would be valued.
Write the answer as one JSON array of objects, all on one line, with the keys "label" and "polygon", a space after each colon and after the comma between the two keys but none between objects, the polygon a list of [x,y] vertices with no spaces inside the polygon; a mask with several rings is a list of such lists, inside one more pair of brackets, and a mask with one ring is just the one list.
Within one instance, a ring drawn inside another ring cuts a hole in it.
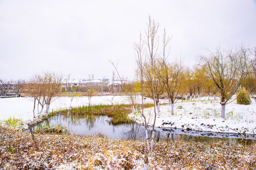
[{"label": "pale white overcast sky above the treeline", "polygon": [[0,0],[0,78],[42,71],[133,78],[133,42],[148,16],[171,38],[169,59],[196,63],[217,46],[256,46],[256,0]]}]

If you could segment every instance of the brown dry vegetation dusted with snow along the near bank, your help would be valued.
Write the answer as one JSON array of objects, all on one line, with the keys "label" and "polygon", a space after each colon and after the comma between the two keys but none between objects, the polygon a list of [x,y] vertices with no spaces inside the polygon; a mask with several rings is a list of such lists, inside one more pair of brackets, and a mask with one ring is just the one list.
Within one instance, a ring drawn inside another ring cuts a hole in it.
[{"label": "brown dry vegetation dusted with snow along the near bank", "polygon": [[[36,134],[0,127],[0,169],[143,170],[145,142],[95,136]],[[155,144],[149,170],[255,170],[256,144],[165,141]]]}]

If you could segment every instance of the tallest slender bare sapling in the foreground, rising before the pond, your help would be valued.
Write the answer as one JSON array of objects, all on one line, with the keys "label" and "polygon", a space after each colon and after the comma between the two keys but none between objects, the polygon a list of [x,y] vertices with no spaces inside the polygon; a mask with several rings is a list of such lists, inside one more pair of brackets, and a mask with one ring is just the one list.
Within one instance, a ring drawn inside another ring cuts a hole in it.
[{"label": "tallest slender bare sapling in the foreground, rising before the pond", "polygon": [[[164,66],[164,62],[168,57],[168,54],[165,54],[166,47],[168,46],[171,38],[166,36],[166,30],[163,30],[163,38],[162,38],[162,51],[159,52],[159,23],[156,23],[154,19],[149,16],[149,21],[147,23],[147,29],[145,30],[145,35],[143,38],[143,43],[145,45],[145,56],[148,60],[148,64],[146,64],[144,71],[145,82],[151,83],[151,98],[154,102],[154,117],[152,124],[152,143],[151,143],[151,152],[154,144],[154,136],[155,136],[155,121],[156,116],[159,116],[159,97],[163,93],[164,84],[161,81],[162,70]],[[170,49],[170,48],[169,48]],[[170,51],[170,50],[169,50]],[[158,110],[156,110],[156,105],[158,106]]]}]

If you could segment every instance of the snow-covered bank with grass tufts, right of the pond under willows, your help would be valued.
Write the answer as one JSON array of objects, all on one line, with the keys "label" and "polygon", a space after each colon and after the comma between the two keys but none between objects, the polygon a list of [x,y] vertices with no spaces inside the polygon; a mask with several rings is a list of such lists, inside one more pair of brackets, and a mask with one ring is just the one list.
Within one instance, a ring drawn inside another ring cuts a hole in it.
[{"label": "snow-covered bank with grass tufts, right of the pond under willows", "polygon": [[[163,105],[160,117],[156,118],[156,127],[181,128],[187,131],[211,131],[227,133],[256,134],[256,102],[251,100],[250,105],[237,104],[236,100],[226,105],[225,119],[220,118],[221,105],[219,100],[206,100],[202,97],[192,102],[177,102],[174,105],[174,115],[171,115],[171,106]],[[153,109],[147,109],[147,119]],[[130,117],[143,123],[140,114],[132,113]],[[152,117],[152,116],[151,116]],[[150,121],[149,125],[152,125]]]}]

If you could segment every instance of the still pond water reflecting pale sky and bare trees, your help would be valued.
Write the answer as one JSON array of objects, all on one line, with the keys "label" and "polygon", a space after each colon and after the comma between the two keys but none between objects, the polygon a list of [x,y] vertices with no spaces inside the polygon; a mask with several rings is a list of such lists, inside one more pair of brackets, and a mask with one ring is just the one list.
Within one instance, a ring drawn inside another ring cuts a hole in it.
[{"label": "still pond water reflecting pale sky and bare trees", "polygon": [[[74,115],[56,115],[53,116],[38,126],[62,126],[66,127],[70,134],[91,135],[102,133],[105,136],[113,139],[130,139],[144,140],[145,128],[136,123],[111,125],[110,118],[107,116],[83,115],[80,117]],[[35,127],[37,128],[37,127]],[[149,129],[149,136],[152,135],[152,129]],[[256,142],[256,136],[244,136],[230,133],[214,133],[204,131],[193,131],[184,129],[163,129],[156,128],[155,140],[162,141],[166,139],[177,140],[194,140],[201,142],[210,142],[218,140],[228,140],[231,143],[240,143],[242,140],[247,140],[248,143]]]}]

